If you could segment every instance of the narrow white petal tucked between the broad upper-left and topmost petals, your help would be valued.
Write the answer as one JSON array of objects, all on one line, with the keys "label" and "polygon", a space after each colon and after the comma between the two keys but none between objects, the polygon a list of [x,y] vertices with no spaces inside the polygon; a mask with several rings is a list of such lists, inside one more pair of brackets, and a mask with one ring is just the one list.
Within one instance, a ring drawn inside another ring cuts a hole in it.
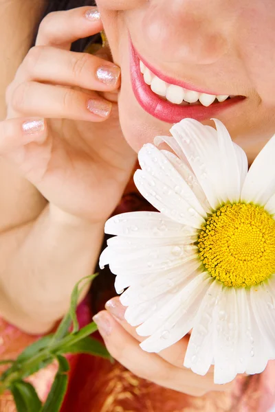
[{"label": "narrow white petal tucked between the broad upper-left and topmost petals", "polygon": [[177,172],[183,177],[188,186],[190,186],[192,191],[195,193],[195,196],[197,197],[199,203],[201,203],[203,209],[210,214],[212,212],[212,209],[208,203],[206,194],[201,189],[197,177],[190,170],[190,168],[188,168],[188,165],[186,165],[184,161],[179,159],[179,157],[177,157],[171,152],[168,152],[167,150],[162,150],[162,153],[168,159],[168,161],[170,161],[170,163],[174,166]]}]

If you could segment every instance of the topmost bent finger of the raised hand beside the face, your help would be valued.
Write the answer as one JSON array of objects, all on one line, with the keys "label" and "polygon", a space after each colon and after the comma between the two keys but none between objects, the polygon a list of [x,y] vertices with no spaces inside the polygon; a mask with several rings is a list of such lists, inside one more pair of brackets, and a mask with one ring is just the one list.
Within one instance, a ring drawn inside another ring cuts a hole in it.
[{"label": "topmost bent finger of the raised hand beside the face", "polygon": [[71,49],[80,38],[93,36],[103,29],[96,7],[80,7],[47,14],[36,38],[36,46],[53,46]]}]

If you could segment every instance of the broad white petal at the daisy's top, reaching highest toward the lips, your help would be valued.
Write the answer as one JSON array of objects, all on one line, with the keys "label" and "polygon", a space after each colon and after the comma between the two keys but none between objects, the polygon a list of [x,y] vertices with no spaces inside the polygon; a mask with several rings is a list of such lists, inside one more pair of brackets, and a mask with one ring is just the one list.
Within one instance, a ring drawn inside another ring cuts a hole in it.
[{"label": "broad white petal at the daisy's top, reaching highest toward the lips", "polygon": [[216,130],[196,120],[184,119],[175,124],[170,133],[188,159],[211,207],[217,209],[224,200]]}]

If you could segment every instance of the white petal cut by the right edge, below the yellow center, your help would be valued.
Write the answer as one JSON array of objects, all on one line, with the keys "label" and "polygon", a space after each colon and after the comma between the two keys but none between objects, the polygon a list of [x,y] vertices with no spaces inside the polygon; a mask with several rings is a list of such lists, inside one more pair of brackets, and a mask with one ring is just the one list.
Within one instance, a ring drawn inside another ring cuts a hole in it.
[{"label": "white petal cut by the right edge, below the yellow center", "polygon": [[250,290],[251,305],[259,330],[266,341],[265,347],[275,354],[275,300],[265,283]]}]

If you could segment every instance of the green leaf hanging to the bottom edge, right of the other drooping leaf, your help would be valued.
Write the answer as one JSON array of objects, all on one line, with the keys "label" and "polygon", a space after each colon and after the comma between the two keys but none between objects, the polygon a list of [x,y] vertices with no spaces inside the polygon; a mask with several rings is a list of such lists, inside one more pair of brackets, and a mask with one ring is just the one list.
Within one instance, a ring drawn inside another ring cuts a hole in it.
[{"label": "green leaf hanging to the bottom edge, right of the other drooping leaf", "polygon": [[68,376],[66,372],[69,364],[63,356],[56,356],[56,358],[58,359],[59,369],[54,378],[54,383],[52,384],[52,389],[47,400],[39,412],[59,412],[65,398],[68,386]]}]

